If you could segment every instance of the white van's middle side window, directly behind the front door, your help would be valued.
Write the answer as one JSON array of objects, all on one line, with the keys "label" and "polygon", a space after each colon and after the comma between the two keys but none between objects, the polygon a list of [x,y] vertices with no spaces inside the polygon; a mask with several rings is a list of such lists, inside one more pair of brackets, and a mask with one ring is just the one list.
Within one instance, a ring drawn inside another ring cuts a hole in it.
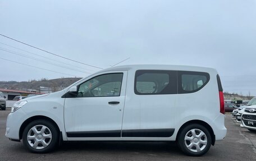
[{"label": "white van's middle side window, directly behind the front door", "polygon": [[177,94],[177,72],[138,70],[135,73],[134,92],[138,95]]}]

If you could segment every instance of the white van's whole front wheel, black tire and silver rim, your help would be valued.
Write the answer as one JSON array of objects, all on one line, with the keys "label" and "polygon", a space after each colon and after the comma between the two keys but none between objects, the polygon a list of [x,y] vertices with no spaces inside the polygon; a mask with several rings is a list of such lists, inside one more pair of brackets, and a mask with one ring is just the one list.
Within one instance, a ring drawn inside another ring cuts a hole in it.
[{"label": "white van's whole front wheel, black tire and silver rim", "polygon": [[38,119],[25,127],[22,142],[32,153],[48,153],[57,148],[58,133],[57,127],[53,123]]}]

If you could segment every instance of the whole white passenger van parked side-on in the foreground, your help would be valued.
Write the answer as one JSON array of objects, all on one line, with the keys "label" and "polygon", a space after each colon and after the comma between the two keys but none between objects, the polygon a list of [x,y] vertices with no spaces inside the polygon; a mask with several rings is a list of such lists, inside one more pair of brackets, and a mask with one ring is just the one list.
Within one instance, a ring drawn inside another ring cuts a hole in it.
[{"label": "whole white passenger van parked side-on in the foreground", "polygon": [[60,140],[176,141],[185,154],[199,156],[226,136],[224,121],[216,70],[131,65],[20,100],[8,115],[6,136],[35,153]]}]

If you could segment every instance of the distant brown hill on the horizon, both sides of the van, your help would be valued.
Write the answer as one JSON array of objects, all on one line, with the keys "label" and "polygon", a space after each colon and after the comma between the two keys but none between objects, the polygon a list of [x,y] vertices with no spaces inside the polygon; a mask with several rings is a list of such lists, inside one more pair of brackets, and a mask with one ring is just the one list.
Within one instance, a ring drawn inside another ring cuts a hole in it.
[{"label": "distant brown hill on the horizon, both sides of the van", "polygon": [[[58,88],[63,89],[67,86],[70,86],[72,83],[80,80],[81,78],[70,77],[70,78],[61,78],[61,79],[41,79],[41,80],[29,80],[29,81],[0,81],[0,88],[3,89],[12,89],[12,90],[24,90],[28,89],[38,90],[40,86],[48,88]],[[250,100],[253,96],[243,96],[239,94],[224,93],[225,100]]]}]

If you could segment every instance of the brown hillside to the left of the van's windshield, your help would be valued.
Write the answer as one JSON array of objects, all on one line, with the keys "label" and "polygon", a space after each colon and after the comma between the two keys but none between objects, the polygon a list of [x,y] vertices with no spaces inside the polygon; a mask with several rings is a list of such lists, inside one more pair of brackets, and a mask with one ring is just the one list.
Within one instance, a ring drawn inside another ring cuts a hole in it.
[{"label": "brown hillside to the left of the van's windshield", "polygon": [[28,90],[34,89],[38,90],[40,86],[48,87],[48,88],[65,88],[72,83],[80,80],[81,78],[73,77],[73,78],[61,78],[61,79],[41,79],[41,80],[31,80],[31,81],[0,81],[0,88],[3,89],[13,89],[13,90]]}]

